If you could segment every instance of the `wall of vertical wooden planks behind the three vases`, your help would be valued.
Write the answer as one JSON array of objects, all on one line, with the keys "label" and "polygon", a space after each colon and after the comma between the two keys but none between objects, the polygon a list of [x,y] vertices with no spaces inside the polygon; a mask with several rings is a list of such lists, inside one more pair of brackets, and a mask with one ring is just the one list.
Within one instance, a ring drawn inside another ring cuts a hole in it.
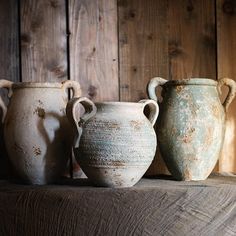
[{"label": "wall of vertical wooden planks behind the three vases", "polygon": [[[73,79],[94,101],[147,98],[154,76],[236,80],[234,0],[0,0],[0,13],[0,79]],[[220,171],[236,172],[235,108]]]}]

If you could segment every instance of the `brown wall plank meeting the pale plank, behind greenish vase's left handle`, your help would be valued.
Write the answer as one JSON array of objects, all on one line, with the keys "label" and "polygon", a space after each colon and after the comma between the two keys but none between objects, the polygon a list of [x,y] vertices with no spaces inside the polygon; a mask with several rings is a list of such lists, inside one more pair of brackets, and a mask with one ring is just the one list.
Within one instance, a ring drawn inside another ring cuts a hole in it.
[{"label": "brown wall plank meeting the pale plank, behind greenish vase's left handle", "polygon": [[154,76],[167,77],[167,1],[119,0],[120,99],[147,98]]}]

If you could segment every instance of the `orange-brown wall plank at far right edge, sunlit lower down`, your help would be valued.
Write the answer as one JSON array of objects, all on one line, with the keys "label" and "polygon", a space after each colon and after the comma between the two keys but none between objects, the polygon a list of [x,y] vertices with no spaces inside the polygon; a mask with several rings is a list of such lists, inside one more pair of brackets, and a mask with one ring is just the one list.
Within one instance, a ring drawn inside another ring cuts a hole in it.
[{"label": "orange-brown wall plank at far right edge, sunlit lower down", "polygon": [[[236,80],[236,1],[217,1],[218,78]],[[226,94],[226,90],[224,94]],[[236,172],[236,100],[227,112],[225,141],[219,170]]]}]

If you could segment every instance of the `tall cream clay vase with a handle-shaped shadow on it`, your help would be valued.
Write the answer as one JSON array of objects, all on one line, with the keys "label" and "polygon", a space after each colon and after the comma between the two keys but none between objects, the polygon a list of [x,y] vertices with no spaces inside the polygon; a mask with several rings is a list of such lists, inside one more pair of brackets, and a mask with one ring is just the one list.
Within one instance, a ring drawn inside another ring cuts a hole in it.
[{"label": "tall cream clay vase with a handle-shaped shadow on it", "polygon": [[54,182],[64,171],[73,144],[66,117],[67,90],[71,88],[79,96],[79,83],[0,80],[0,87],[9,90],[8,109],[2,99],[0,102],[5,145],[14,169],[30,184]]}]

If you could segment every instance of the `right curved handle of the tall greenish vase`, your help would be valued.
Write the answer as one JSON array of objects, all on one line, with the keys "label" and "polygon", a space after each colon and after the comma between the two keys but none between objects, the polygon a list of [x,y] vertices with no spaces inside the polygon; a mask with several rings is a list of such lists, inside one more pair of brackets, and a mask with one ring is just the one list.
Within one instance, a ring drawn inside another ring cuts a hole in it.
[{"label": "right curved handle of the tall greenish vase", "polygon": [[236,82],[229,78],[222,78],[218,82],[218,90],[221,92],[222,85],[225,85],[229,87],[229,92],[225,98],[225,101],[223,102],[223,107],[227,111],[230,103],[233,101],[235,95],[236,95]]}]

